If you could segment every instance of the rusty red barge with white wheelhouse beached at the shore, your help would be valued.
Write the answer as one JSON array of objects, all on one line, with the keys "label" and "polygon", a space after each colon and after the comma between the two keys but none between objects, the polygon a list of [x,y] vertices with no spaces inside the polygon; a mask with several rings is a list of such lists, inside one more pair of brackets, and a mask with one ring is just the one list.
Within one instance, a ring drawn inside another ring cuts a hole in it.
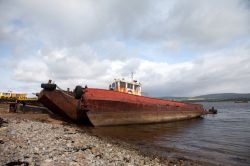
[{"label": "rusty red barge with white wheelhouse beached at the shore", "polygon": [[55,113],[93,126],[146,124],[197,118],[208,112],[190,104],[141,96],[137,81],[115,79],[109,89],[76,86],[63,91],[56,84],[42,84],[39,101]]}]

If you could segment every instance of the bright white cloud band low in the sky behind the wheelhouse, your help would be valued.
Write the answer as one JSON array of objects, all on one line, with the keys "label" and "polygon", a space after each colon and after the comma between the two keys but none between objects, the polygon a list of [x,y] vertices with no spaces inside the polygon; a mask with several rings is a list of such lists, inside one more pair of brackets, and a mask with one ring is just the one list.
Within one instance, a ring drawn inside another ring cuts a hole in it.
[{"label": "bright white cloud band low in the sky behind the wheelhouse", "polygon": [[[21,61],[15,79],[42,82],[54,79],[59,86],[73,88],[77,84],[108,87],[114,78],[130,77],[142,82],[144,91],[154,96],[184,96],[216,92],[246,92],[250,80],[250,47],[221,50],[198,59],[178,64],[127,60],[94,59],[69,56],[67,50],[56,50],[37,56],[37,60]],[[42,57],[42,58],[41,58]]]}]

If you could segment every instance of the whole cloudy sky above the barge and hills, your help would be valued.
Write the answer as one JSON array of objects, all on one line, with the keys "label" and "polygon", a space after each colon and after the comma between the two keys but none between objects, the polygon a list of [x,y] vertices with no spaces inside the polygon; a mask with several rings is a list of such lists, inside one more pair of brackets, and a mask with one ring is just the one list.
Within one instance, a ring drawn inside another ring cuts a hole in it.
[{"label": "whole cloudy sky above the barge and hills", "polygon": [[150,96],[250,92],[250,1],[0,0],[0,91],[131,72]]}]

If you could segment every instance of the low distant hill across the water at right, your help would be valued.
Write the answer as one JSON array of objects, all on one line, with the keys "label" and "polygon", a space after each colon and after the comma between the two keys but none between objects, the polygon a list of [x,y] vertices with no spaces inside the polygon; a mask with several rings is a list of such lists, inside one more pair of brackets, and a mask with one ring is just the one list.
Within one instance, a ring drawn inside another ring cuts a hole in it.
[{"label": "low distant hill across the water at right", "polygon": [[176,101],[250,101],[250,93],[217,93],[195,97],[162,97]]}]

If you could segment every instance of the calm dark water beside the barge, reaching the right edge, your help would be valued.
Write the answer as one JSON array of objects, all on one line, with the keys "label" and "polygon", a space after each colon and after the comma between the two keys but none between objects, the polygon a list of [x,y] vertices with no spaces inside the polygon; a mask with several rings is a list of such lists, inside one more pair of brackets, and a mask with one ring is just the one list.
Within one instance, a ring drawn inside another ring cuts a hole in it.
[{"label": "calm dark water beside the barge, reaching the right edge", "polygon": [[[92,128],[142,151],[218,165],[250,165],[250,103],[204,102],[217,115],[181,122]],[[171,153],[169,153],[171,151]]]}]

